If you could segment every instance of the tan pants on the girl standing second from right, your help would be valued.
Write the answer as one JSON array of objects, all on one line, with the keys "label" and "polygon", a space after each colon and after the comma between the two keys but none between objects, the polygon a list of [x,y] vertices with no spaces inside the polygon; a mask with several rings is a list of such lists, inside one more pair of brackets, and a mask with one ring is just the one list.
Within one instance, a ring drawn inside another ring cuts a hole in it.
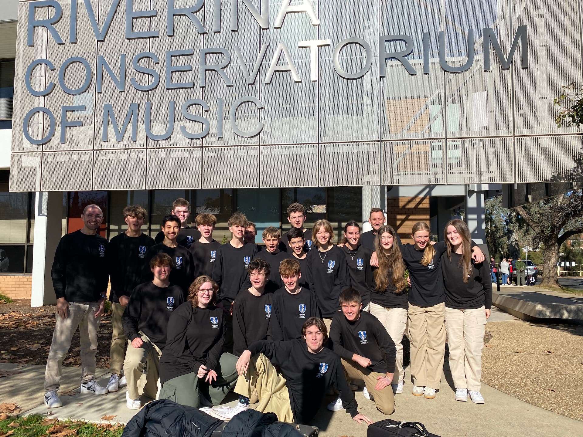
[{"label": "tan pants on the girl standing second from right", "polygon": [[413,384],[438,390],[445,354],[445,304],[409,303],[407,318]]}]

